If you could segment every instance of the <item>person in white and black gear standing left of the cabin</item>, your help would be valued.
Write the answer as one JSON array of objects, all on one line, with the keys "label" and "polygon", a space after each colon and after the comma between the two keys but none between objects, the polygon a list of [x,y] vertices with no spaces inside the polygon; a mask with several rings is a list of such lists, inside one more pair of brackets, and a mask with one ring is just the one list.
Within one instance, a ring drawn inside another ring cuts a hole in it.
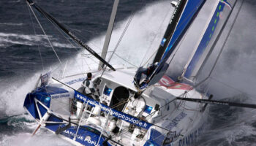
[{"label": "person in white and black gear standing left of the cabin", "polygon": [[99,96],[95,95],[97,88],[94,87],[94,82],[91,81],[92,74],[89,72],[87,74],[87,79],[83,81],[83,93],[86,94],[86,96],[91,97],[94,100],[98,100]]}]

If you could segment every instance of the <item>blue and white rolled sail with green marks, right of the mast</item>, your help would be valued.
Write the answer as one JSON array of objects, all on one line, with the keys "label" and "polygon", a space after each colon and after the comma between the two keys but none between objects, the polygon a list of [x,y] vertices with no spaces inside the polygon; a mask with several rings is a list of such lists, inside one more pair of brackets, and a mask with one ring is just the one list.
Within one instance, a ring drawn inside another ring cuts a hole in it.
[{"label": "blue and white rolled sail with green marks, right of the mast", "polygon": [[184,72],[181,77],[194,80],[204,64],[206,64],[208,56],[211,55],[211,52],[217,43],[217,38],[221,34],[231,10],[233,9],[232,6],[234,3],[235,1],[230,3],[227,0],[217,0],[215,2],[208,23],[206,23],[191,58],[184,67]]}]

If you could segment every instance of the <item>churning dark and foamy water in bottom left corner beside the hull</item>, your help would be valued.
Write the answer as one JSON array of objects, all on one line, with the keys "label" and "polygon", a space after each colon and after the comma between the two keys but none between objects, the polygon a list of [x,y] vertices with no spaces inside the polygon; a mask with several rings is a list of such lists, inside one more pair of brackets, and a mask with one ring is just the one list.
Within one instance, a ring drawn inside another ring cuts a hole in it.
[{"label": "churning dark and foamy water in bottom left corner beside the hull", "polygon": [[[59,137],[53,137],[52,134],[45,129],[39,129],[34,137],[31,137],[34,129],[38,124],[31,118],[30,115],[17,115],[0,120],[1,125],[6,125],[7,128],[1,129],[5,131],[0,133],[0,145],[61,145],[66,146],[69,143],[63,141]],[[10,130],[10,131],[8,131]],[[45,141],[45,139],[47,139]],[[46,143],[45,143],[46,142]]]}]

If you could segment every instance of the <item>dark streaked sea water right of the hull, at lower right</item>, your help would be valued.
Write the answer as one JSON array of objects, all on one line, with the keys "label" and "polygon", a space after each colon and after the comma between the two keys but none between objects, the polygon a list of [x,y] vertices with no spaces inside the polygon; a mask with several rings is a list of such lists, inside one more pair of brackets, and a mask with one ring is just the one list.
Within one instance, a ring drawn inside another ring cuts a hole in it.
[{"label": "dark streaked sea water right of the hull, at lower right", "polygon": [[[240,94],[227,98],[227,101],[252,102],[252,99]],[[241,107],[211,105],[206,115],[206,129],[195,145],[253,145],[256,140],[249,139],[255,139],[256,135],[255,112]]]}]

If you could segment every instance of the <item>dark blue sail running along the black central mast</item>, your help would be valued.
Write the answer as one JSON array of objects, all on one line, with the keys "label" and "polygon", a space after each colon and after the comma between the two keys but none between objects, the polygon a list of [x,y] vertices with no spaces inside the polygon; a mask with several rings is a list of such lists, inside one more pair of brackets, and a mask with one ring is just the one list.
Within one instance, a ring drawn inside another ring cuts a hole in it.
[{"label": "dark blue sail running along the black central mast", "polygon": [[[151,75],[151,78],[148,82],[148,85],[153,85],[154,83],[158,82],[163,74],[165,74],[169,64],[167,63],[167,59],[170,57],[170,55],[173,53],[173,50],[175,50],[176,45],[178,45],[178,42],[181,40],[181,38],[184,36],[185,31],[187,31],[187,28],[189,28],[192,21],[195,19],[195,16],[197,15],[197,12],[200,11],[200,8],[203,6],[205,0],[187,0],[186,4],[183,6],[182,4],[184,1],[178,1],[178,7],[184,7],[183,11],[181,10],[181,16],[179,17],[178,23],[177,22],[170,22],[167,31],[171,31],[170,25],[172,23],[176,23],[175,30],[173,30],[173,33],[165,33],[170,34],[170,36],[167,36],[170,38],[168,41],[167,38],[163,38],[161,45],[166,46],[164,48],[165,52],[162,54],[157,54],[156,58],[159,58],[161,56],[161,60],[159,61],[159,65],[157,66],[157,69],[154,71],[154,74]],[[181,4],[181,5],[179,5]],[[176,14],[176,12],[174,13]],[[175,18],[175,16],[173,16]],[[165,45],[165,43],[167,45]],[[159,49],[162,47],[160,46]],[[154,61],[157,61],[158,59],[154,59]]]}]

